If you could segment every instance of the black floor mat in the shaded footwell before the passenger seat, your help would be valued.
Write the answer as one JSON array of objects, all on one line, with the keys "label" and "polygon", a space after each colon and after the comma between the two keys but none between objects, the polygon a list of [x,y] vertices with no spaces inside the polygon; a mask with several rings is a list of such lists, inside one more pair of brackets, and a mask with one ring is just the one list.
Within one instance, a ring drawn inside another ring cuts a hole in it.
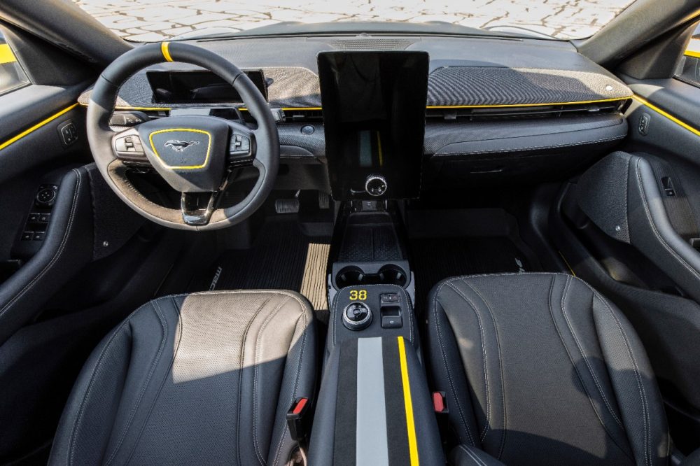
[{"label": "black floor mat in the shaded footwell before the passenger seat", "polygon": [[474,274],[537,271],[509,238],[416,238],[410,240],[416,277],[416,310],[426,309],[430,290],[444,278]]}]

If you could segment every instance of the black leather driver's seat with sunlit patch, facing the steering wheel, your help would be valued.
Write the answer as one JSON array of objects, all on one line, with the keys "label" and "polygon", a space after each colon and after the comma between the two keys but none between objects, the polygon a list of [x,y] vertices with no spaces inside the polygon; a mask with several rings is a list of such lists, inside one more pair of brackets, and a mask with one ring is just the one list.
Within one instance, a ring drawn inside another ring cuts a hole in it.
[{"label": "black leather driver's seat with sunlit patch, facing the steering wheel", "polygon": [[50,464],[281,465],[286,411],[311,397],[311,306],[286,291],[162,297],[87,360]]}]

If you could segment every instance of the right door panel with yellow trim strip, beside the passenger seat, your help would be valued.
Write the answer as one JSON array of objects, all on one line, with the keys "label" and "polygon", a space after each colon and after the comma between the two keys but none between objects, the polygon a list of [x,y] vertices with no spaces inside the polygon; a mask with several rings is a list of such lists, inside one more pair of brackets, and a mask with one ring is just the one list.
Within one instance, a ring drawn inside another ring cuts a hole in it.
[{"label": "right door panel with yellow trim strip, beside the passenger seat", "polygon": [[674,442],[692,451],[700,446],[700,88],[622,78],[635,92],[625,154],[563,190],[554,240],[635,326]]}]

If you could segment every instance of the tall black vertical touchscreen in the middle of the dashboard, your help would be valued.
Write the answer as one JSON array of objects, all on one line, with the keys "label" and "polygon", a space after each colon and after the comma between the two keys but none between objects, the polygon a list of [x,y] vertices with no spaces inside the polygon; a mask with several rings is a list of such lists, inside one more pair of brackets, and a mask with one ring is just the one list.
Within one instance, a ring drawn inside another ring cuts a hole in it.
[{"label": "tall black vertical touchscreen in the middle of the dashboard", "polygon": [[428,54],[414,51],[318,54],[325,153],[335,199],[418,197],[428,93]]}]

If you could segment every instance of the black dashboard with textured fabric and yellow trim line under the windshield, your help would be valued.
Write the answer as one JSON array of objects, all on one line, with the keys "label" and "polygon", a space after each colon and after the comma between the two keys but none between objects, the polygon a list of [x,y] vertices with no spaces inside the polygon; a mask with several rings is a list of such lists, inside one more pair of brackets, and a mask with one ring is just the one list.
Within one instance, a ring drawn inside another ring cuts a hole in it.
[{"label": "black dashboard with textured fabric and yellow trim line under the windshield", "polygon": [[[319,54],[328,52],[427,54],[423,189],[565,176],[627,134],[622,111],[631,90],[568,42],[384,35],[191,42],[229,59],[264,91],[286,164],[328,164],[318,70]],[[181,63],[150,66],[121,87],[116,108],[140,118],[192,112],[246,120],[239,99],[212,83],[211,76],[197,81],[197,71]],[[154,76],[162,83],[184,73],[192,74],[187,83],[179,83],[183,92],[174,92],[174,98],[164,99],[156,91],[162,85],[154,85]],[[87,90],[80,104],[86,105],[89,97]]]}]

